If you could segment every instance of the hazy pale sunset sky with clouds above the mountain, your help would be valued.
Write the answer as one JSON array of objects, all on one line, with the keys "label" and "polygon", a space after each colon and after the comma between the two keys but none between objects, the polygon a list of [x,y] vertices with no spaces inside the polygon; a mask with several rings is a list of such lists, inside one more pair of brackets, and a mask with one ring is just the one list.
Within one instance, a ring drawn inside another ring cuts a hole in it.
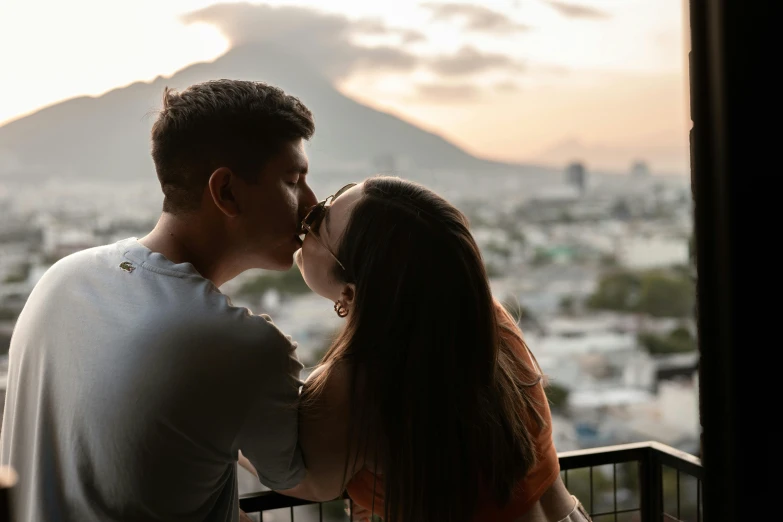
[{"label": "hazy pale sunset sky with clouds above the mountain", "polygon": [[[252,36],[252,16],[278,12],[213,4],[227,2],[0,0],[0,124],[213,60]],[[682,0],[264,4],[307,8],[278,41],[298,24],[308,37],[292,45],[317,44],[339,26],[349,43],[335,52],[378,48],[336,56],[336,85],[472,153],[686,172]]]}]

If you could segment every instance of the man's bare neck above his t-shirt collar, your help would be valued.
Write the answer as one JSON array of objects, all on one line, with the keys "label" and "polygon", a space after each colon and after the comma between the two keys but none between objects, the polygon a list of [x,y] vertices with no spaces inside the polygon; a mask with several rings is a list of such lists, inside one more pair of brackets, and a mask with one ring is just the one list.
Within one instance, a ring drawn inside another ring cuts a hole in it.
[{"label": "man's bare neck above his t-shirt collar", "polygon": [[227,263],[232,256],[221,236],[225,237],[203,226],[196,216],[188,216],[186,222],[164,212],[152,232],[139,243],[172,263],[192,264],[199,274],[219,287],[241,271]]}]

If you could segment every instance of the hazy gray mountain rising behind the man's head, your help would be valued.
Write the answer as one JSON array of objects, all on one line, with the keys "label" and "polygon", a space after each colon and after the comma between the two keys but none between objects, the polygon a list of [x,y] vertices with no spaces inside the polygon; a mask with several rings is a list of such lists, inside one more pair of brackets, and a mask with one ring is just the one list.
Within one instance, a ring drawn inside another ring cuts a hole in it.
[{"label": "hazy gray mountain rising behind the man's head", "polygon": [[299,58],[269,45],[247,45],[170,78],[74,98],[0,127],[0,179],[149,177],[154,172],[149,131],[164,87],[183,89],[217,78],[265,81],[300,97],[315,115],[308,154],[320,171],[366,169],[369,175],[374,161],[389,156],[411,170],[542,170],[476,158],[436,134],[348,98]]}]

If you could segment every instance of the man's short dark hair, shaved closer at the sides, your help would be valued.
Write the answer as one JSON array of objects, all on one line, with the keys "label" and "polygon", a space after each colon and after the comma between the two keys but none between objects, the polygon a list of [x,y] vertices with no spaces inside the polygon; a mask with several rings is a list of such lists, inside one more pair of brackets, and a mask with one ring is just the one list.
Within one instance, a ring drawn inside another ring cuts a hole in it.
[{"label": "man's short dark hair, shaved closer at the sides", "polygon": [[230,168],[254,182],[283,144],[308,140],[313,115],[298,98],[261,82],[214,80],[168,87],[152,127],[152,159],[163,211],[197,210],[209,176]]}]

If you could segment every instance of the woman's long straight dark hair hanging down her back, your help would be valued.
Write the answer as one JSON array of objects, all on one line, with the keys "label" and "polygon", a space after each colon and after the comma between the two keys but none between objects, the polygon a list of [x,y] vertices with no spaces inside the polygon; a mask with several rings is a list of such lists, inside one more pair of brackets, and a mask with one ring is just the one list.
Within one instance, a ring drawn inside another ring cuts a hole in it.
[{"label": "woman's long straight dark hair hanging down her back", "polygon": [[465,216],[420,185],[371,178],[338,257],[355,305],[304,404],[350,361],[352,445],[383,472],[387,522],[469,521],[481,491],[508,502],[536,461],[536,372],[502,340]]}]

